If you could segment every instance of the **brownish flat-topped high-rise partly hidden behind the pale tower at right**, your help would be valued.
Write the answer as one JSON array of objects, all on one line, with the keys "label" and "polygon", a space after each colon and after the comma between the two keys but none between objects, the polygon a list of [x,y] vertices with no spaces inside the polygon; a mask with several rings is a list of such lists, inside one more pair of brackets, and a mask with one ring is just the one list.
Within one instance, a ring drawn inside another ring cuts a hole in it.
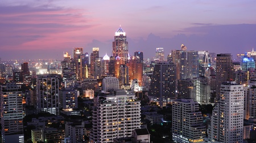
[{"label": "brownish flat-topped high-rise partly hidden behind the pale tower at right", "polygon": [[234,79],[234,67],[232,63],[231,54],[217,54],[216,58],[216,99],[220,99],[220,86],[221,83],[235,80]]}]

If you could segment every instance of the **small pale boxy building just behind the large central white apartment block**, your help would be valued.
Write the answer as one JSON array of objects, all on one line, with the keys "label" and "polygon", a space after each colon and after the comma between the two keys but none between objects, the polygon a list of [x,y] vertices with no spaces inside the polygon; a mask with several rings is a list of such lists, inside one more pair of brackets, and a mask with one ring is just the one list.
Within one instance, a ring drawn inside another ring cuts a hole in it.
[{"label": "small pale boxy building just behind the large central white apartment block", "polygon": [[109,90],[118,90],[119,81],[117,77],[105,77],[102,80],[102,90],[108,92]]}]

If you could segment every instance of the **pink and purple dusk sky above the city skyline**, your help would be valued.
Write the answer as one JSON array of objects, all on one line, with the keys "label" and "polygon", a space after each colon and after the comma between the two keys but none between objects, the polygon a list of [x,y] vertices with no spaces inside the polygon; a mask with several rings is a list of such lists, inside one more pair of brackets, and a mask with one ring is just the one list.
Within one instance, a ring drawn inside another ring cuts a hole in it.
[{"label": "pink and purple dusk sky above the city skyline", "polygon": [[129,53],[145,58],[163,47],[243,54],[256,47],[256,1],[0,1],[0,58],[63,59],[73,47],[112,54],[121,25]]}]

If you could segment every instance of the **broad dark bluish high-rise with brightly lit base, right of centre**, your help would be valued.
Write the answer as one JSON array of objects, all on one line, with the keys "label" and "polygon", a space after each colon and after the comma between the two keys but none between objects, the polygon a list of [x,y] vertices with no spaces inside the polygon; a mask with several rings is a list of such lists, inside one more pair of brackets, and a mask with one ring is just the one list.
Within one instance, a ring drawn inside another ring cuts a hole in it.
[{"label": "broad dark bluish high-rise with brightly lit base, right of centre", "polygon": [[166,106],[176,97],[176,68],[174,63],[160,61],[155,64],[148,98],[159,106]]}]

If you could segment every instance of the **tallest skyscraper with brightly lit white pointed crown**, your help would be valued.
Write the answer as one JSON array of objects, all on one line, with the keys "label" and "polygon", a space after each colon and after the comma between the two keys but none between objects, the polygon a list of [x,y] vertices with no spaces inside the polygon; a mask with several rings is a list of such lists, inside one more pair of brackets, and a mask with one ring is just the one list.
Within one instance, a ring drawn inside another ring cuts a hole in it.
[{"label": "tallest skyscraper with brightly lit white pointed crown", "polygon": [[114,42],[112,43],[113,57],[119,57],[119,64],[126,64],[128,55],[128,42],[126,41],[126,33],[121,27],[115,32]]}]

